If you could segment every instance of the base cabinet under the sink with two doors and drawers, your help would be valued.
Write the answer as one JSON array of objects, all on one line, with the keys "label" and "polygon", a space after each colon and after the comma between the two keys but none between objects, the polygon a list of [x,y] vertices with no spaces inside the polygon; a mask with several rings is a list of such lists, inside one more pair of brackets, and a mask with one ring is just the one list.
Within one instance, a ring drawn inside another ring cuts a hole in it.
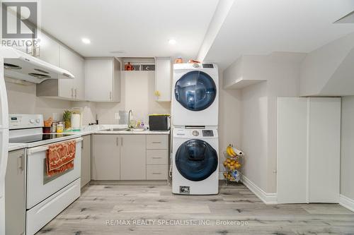
[{"label": "base cabinet under the sink with two doors and drawers", "polygon": [[167,180],[169,135],[95,134],[91,138],[91,179]]}]

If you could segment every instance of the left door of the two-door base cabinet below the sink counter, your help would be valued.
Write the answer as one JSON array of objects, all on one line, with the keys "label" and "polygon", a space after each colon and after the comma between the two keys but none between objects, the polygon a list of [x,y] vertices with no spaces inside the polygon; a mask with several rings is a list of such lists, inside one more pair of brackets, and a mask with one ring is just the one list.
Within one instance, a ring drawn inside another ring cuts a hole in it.
[{"label": "left door of the two-door base cabinet below the sink counter", "polygon": [[91,179],[120,179],[120,135],[92,135]]}]

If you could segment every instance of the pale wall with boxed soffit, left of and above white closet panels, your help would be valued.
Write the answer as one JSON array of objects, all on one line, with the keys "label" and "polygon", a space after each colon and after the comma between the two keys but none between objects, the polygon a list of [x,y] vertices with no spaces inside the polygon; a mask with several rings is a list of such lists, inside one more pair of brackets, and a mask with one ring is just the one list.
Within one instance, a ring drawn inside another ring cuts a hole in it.
[{"label": "pale wall with boxed soffit, left of and above white closet panels", "polygon": [[277,97],[299,96],[299,68],[304,56],[293,52],[244,55],[224,71],[227,82],[232,81],[233,71],[235,77],[265,80],[241,89],[240,110],[244,174],[265,193],[276,192]]}]

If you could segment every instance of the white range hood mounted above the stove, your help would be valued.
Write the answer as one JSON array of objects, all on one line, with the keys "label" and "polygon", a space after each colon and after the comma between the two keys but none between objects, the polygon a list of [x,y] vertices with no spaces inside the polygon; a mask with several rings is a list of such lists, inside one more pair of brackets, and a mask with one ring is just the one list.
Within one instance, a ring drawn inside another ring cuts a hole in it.
[{"label": "white range hood mounted above the stove", "polygon": [[4,57],[4,75],[8,78],[25,80],[30,83],[42,83],[47,79],[74,78],[69,71],[13,47],[0,47],[0,56]]}]

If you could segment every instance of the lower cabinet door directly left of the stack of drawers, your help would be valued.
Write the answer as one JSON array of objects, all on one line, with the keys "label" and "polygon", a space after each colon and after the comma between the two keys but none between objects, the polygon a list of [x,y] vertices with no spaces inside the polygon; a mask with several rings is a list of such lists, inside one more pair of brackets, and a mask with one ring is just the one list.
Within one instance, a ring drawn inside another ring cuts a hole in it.
[{"label": "lower cabinet door directly left of the stack of drawers", "polygon": [[146,165],[146,135],[121,135],[120,179],[147,179]]}]

